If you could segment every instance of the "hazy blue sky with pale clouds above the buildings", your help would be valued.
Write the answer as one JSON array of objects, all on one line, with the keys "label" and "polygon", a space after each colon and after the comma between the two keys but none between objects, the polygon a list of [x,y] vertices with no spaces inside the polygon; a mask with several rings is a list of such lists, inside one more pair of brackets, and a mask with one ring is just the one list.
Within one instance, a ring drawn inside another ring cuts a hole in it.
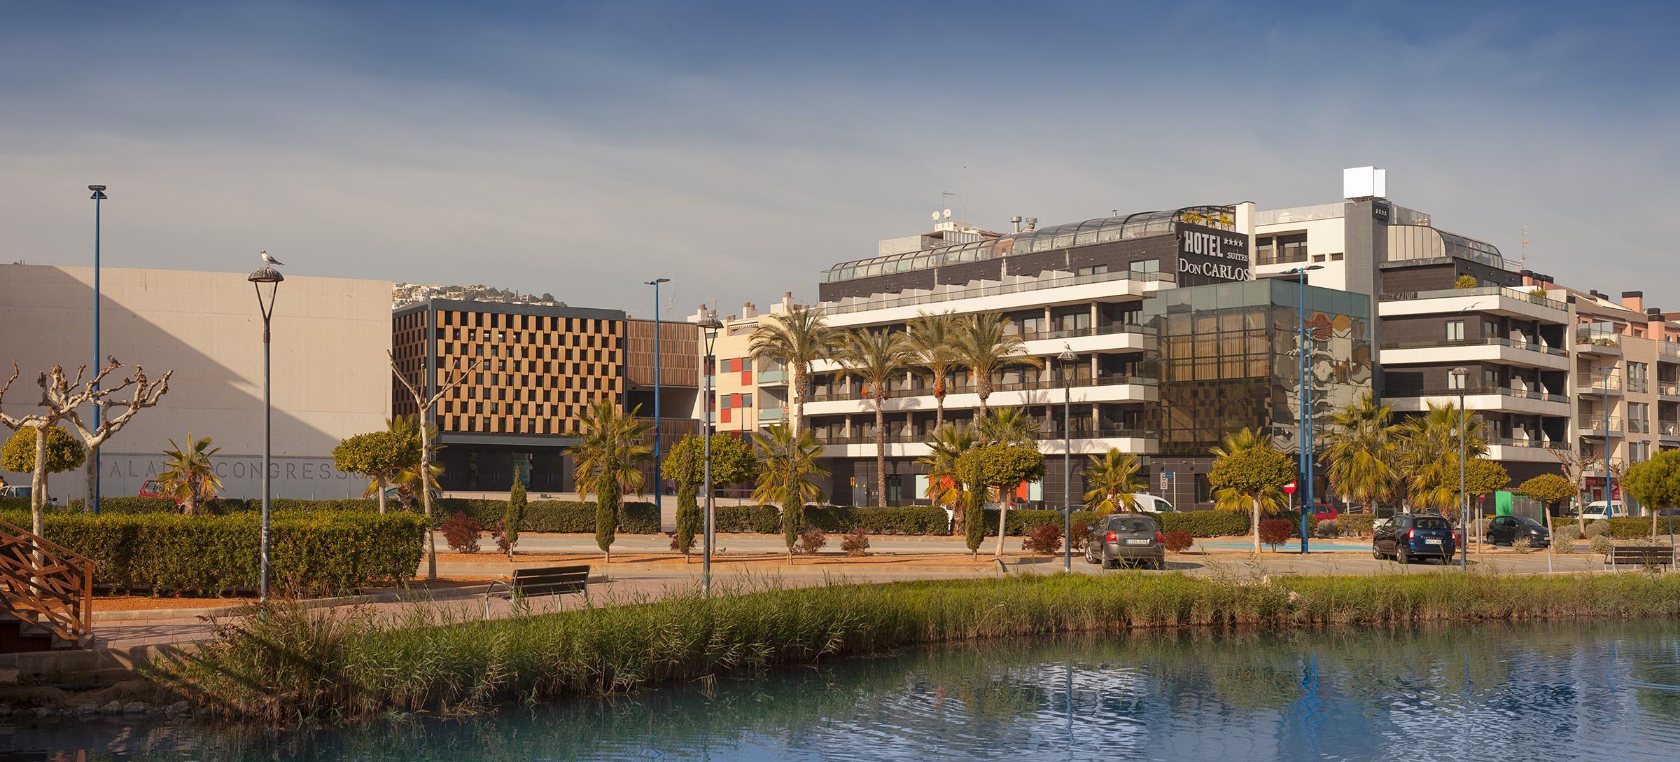
[{"label": "hazy blue sky with pale clouds above the buildings", "polygon": [[[0,261],[739,313],[929,212],[1341,197],[1680,310],[1680,13],[1549,3],[0,3]],[[944,193],[954,195],[944,195]]]}]

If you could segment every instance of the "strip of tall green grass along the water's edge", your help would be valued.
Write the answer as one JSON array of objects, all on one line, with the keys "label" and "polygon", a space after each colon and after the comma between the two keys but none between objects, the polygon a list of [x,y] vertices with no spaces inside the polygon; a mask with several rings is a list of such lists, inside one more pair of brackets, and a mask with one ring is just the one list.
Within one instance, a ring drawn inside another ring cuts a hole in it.
[{"label": "strip of tall green grass along the water's edge", "polygon": [[470,713],[919,643],[1129,627],[1300,627],[1680,614],[1680,575],[1053,575],[680,594],[581,611],[400,621],[276,607],[218,627],[166,685],[245,718]]}]

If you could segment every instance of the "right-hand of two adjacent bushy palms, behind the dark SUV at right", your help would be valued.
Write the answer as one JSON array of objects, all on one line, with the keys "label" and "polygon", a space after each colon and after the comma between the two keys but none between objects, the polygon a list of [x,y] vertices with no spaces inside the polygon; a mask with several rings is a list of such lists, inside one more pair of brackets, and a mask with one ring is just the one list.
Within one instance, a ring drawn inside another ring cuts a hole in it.
[{"label": "right-hand of two adjacent bushy palms, behind the dark SUV at right", "polygon": [[1487,454],[1487,422],[1460,414],[1452,402],[1430,404],[1430,410],[1404,424],[1399,464],[1408,474],[1406,501],[1435,508],[1443,515],[1458,511],[1458,431],[1463,426],[1465,458]]}]

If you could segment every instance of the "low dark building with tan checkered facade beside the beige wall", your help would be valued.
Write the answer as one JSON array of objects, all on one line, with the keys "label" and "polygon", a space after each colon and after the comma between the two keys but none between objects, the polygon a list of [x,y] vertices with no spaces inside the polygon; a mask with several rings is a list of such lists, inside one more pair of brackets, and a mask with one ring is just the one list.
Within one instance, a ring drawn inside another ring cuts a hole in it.
[{"label": "low dark building with tan checkered facade beside the beige wall", "polygon": [[[391,313],[391,335],[398,370],[425,395],[467,377],[432,410],[445,491],[504,491],[516,469],[531,489],[573,491],[566,447],[590,404],[640,402],[652,417],[654,326],[618,310],[427,299]],[[660,392],[677,410],[662,431],[675,444],[697,431],[687,415],[699,380],[694,326],[662,326],[659,355]],[[395,414],[417,412],[402,384],[391,394]]]}]

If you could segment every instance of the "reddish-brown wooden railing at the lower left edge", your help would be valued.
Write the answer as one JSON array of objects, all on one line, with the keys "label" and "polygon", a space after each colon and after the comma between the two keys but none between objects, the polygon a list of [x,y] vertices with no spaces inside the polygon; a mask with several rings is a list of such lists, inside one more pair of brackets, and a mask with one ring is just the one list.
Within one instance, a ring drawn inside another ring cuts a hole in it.
[{"label": "reddish-brown wooden railing at the lower left edge", "polygon": [[94,562],[0,521],[0,606],[25,624],[84,646],[92,638]]}]

